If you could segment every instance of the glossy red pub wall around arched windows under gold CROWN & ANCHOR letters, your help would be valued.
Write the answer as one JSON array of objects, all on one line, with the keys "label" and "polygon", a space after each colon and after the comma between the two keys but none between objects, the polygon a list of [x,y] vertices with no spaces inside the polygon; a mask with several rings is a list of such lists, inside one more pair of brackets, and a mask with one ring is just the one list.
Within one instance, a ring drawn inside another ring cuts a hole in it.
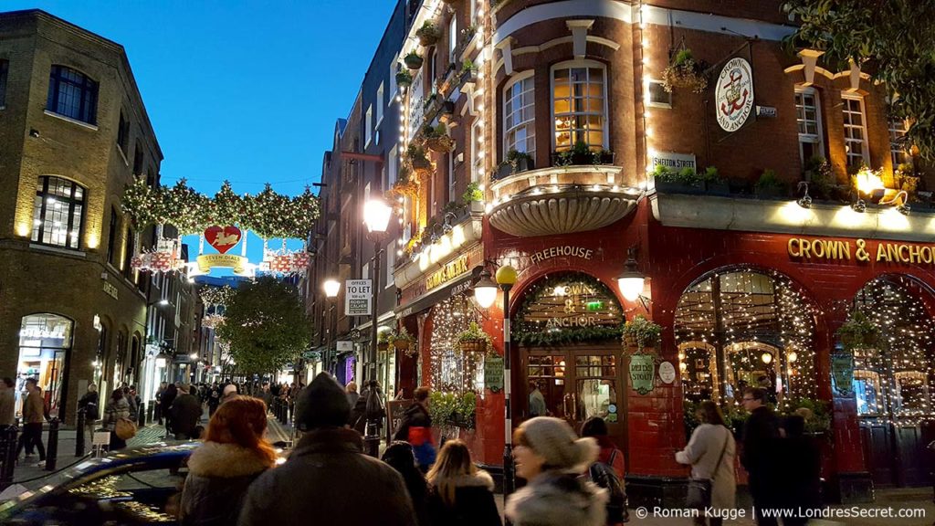
[{"label": "glossy red pub wall around arched windows under gold CROWN & ANCHOR letters", "polygon": [[[654,321],[671,328],[675,308],[683,291],[712,270],[748,266],[776,270],[800,287],[803,296],[817,307],[815,356],[819,374],[818,396],[831,400],[829,355],[834,333],[847,317],[852,300],[864,285],[886,274],[911,276],[924,288],[935,287],[935,273],[913,264],[809,262],[788,255],[787,243],[795,236],[758,232],[715,231],[662,226],[652,220],[649,226],[651,253],[642,271],[651,277]],[[844,238],[827,240],[854,241]],[[868,246],[877,241],[869,240]],[[871,253],[873,254],[873,253]],[[872,259],[872,257],[871,257]],[[931,298],[923,296],[929,313],[935,315]],[[663,352],[674,350],[672,331],[664,331]],[[861,437],[853,398],[835,397],[833,416],[834,458],[828,466],[835,473],[866,471]],[[632,409],[631,409],[632,411]],[[826,474],[827,475],[827,474]]]}]

